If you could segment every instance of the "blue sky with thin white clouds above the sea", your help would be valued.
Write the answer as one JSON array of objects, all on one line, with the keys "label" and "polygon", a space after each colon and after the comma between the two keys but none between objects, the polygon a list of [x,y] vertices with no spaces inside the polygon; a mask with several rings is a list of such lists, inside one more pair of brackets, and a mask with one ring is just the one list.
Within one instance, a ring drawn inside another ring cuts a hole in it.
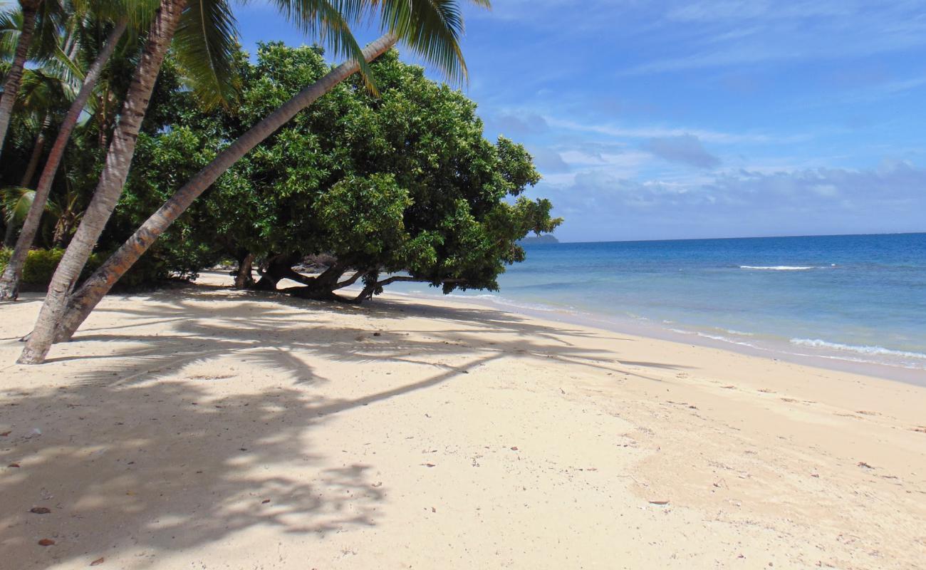
[{"label": "blue sky with thin white clouds above the sea", "polygon": [[[926,231],[926,0],[462,4],[456,86],[532,153],[560,241]],[[235,14],[252,54],[317,40]]]}]

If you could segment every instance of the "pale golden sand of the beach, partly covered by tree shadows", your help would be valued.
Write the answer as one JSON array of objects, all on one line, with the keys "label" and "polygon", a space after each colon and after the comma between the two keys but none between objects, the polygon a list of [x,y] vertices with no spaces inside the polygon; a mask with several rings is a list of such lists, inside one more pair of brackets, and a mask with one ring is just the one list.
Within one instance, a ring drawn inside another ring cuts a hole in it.
[{"label": "pale golden sand of the beach, partly covered by tree shadows", "polygon": [[0,568],[926,568],[926,388],[228,280],[0,306]]}]

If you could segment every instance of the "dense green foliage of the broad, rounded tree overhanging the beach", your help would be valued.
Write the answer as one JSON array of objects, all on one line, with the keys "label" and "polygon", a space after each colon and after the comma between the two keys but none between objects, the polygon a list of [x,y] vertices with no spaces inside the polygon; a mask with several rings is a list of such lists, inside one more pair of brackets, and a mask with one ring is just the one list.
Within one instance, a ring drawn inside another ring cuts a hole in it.
[{"label": "dense green foliage of the broad, rounded tree overhanging the beach", "polygon": [[[215,153],[328,69],[317,48],[262,44],[241,59],[237,108],[203,110],[182,91],[175,120],[139,137],[117,225],[144,218]],[[521,196],[540,176],[530,154],[482,136],[476,106],[394,52],[372,64],[380,87],[344,82],[219,178],[158,241],[171,271],[249,252],[329,253],[369,273],[455,288],[497,288],[517,241],[552,231],[547,200]],[[374,284],[375,285],[375,284]]]}]

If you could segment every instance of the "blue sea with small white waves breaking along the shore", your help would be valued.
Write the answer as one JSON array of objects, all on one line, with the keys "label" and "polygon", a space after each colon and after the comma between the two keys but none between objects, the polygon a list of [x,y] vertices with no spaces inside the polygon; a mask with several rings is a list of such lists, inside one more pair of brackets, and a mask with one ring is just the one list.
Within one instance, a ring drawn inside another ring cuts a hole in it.
[{"label": "blue sea with small white waves breaking along the shore", "polygon": [[526,249],[497,293],[464,295],[615,330],[635,323],[729,348],[886,364],[926,379],[926,234]]}]

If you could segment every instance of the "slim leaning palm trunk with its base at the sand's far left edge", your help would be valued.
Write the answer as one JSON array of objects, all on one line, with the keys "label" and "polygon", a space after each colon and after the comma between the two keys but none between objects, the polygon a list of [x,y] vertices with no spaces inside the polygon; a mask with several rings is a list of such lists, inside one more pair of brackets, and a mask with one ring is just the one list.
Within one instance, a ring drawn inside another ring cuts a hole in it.
[{"label": "slim leaning palm trunk with its base at the sand's far left edge", "polygon": [[[13,255],[10,256],[6,264],[6,270],[3,277],[0,278],[0,300],[16,300],[19,295],[19,280],[22,278],[22,268],[26,264],[26,256],[35,241],[35,234],[39,231],[39,222],[42,220],[42,212],[45,208],[45,202],[48,201],[48,193],[51,192],[52,183],[55,181],[55,174],[61,158],[64,158],[65,147],[68,146],[70,133],[73,132],[74,126],[81,115],[83,106],[86,105],[87,99],[94,91],[96,81],[106,65],[106,60],[112,56],[116,50],[116,44],[119,44],[119,38],[125,32],[128,24],[127,19],[122,19],[116,24],[109,36],[106,37],[106,44],[97,55],[94,64],[87,70],[83,78],[81,90],[77,98],[71,103],[68,114],[65,115],[61,122],[61,128],[57,133],[55,145],[52,146],[48,154],[48,160],[45,162],[42,176],[39,177],[39,185],[35,188],[35,198],[32,200],[29,214],[26,215],[26,221],[22,224],[22,230],[19,233],[19,240],[16,242],[16,248]],[[30,175],[31,180],[31,175]],[[23,184],[27,186],[28,184]]]}]

